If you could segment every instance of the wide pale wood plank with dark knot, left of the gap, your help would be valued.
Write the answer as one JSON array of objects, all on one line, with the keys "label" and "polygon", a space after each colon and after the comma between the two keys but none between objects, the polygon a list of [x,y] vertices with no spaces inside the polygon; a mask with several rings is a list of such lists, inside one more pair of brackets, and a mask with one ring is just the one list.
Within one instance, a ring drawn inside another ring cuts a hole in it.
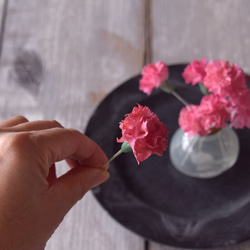
[{"label": "wide pale wood plank with dark knot, left of the gap", "polygon": [[[83,131],[101,99],[140,71],[143,22],[142,0],[9,0],[0,120],[22,114]],[[143,246],[141,237],[115,222],[88,193],[46,250]]]}]

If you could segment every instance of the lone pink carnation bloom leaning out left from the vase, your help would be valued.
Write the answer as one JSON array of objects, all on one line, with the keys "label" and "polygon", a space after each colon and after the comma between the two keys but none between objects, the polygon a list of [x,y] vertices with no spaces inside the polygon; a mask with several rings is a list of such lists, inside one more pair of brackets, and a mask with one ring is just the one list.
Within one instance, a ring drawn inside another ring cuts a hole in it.
[{"label": "lone pink carnation bloom leaning out left from the vase", "polygon": [[150,95],[154,88],[160,85],[168,78],[168,67],[163,62],[146,65],[142,70],[142,78],[139,83],[139,90]]}]

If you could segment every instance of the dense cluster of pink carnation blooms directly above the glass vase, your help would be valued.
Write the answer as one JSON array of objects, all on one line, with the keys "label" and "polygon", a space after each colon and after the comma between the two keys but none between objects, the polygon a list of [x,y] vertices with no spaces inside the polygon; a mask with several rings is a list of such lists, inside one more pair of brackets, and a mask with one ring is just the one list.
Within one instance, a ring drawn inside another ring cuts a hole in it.
[{"label": "dense cluster of pink carnation blooms directly above the glass vase", "polygon": [[211,127],[221,128],[227,121],[231,127],[250,128],[250,92],[239,66],[222,60],[193,60],[183,78],[192,85],[203,83],[210,93],[199,106],[189,105],[181,110],[179,124],[185,132],[204,136],[211,133]]}]

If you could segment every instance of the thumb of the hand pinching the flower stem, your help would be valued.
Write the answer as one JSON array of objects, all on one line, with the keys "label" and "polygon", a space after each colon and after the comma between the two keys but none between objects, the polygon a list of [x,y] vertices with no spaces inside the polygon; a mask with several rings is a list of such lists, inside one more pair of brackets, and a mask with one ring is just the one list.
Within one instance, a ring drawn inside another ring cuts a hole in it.
[{"label": "thumb of the hand pinching the flower stem", "polygon": [[102,168],[75,167],[71,169],[59,177],[50,188],[54,208],[66,214],[87,191],[102,184],[108,178],[109,173]]}]

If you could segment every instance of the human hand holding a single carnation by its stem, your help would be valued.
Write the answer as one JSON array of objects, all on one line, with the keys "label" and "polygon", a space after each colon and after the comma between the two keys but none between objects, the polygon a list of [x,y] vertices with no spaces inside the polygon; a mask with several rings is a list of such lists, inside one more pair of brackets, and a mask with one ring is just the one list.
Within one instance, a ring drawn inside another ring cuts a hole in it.
[{"label": "human hand holding a single carnation by its stem", "polygon": [[[69,172],[57,178],[55,163]],[[70,208],[109,178],[101,148],[56,121],[0,122],[0,248],[44,249]]]}]

